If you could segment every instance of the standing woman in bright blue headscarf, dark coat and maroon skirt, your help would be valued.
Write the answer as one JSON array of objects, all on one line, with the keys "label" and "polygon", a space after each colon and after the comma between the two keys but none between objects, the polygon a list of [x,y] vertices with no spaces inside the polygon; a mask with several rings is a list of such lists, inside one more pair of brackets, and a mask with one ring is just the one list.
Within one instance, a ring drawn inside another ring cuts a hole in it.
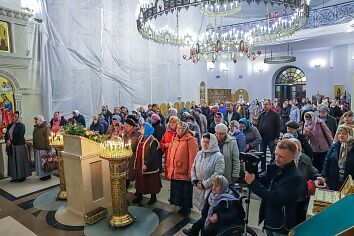
[{"label": "standing woman in bright blue headscarf, dark coat and maroon skirt", "polygon": [[145,122],[140,132],[143,136],[139,140],[134,163],[136,197],[133,203],[140,203],[143,194],[151,194],[148,204],[153,205],[157,201],[156,194],[162,188],[159,174],[162,151],[159,142],[152,135],[154,128],[149,123]]}]

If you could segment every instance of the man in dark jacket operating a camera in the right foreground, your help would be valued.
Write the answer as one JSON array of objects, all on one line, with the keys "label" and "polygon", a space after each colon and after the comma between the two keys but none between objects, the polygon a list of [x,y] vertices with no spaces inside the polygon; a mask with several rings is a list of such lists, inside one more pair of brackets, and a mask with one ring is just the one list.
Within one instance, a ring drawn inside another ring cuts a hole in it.
[{"label": "man in dark jacket operating a camera in the right foreground", "polygon": [[306,182],[296,167],[296,144],[282,140],[275,150],[275,164],[268,166],[264,176],[255,179],[245,174],[245,181],[252,192],[262,198],[259,223],[264,220],[267,236],[285,236],[296,226],[299,214],[303,214],[306,198]]}]

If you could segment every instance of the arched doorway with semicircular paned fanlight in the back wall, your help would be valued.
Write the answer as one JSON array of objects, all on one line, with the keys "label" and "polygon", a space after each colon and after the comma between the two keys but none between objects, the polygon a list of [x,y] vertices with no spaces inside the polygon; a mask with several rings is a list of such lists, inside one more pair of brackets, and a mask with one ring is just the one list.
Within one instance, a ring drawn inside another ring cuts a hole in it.
[{"label": "arched doorway with semicircular paned fanlight in the back wall", "polygon": [[281,68],[275,74],[275,97],[281,102],[306,97],[306,76],[305,73],[294,66]]}]

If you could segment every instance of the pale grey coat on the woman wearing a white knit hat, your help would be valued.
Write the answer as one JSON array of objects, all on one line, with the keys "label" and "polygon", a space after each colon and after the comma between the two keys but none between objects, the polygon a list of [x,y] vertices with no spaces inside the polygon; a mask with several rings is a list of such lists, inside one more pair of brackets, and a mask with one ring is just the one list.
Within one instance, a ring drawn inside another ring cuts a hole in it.
[{"label": "pale grey coat on the woman wearing a white knit hat", "polygon": [[224,141],[220,152],[225,159],[224,176],[229,183],[232,183],[232,178],[240,177],[240,152],[238,150],[236,139],[230,135],[226,135],[226,140]]}]

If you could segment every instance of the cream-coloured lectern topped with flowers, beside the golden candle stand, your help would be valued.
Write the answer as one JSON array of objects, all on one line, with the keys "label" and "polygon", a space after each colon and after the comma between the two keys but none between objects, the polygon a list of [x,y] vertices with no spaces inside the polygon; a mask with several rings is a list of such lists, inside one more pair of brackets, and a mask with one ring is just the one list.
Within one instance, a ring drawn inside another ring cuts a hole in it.
[{"label": "cream-coloured lectern topped with flowers, beside the golden candle stand", "polygon": [[64,169],[67,210],[78,215],[111,206],[109,163],[99,157],[100,144],[87,138],[64,135]]}]

